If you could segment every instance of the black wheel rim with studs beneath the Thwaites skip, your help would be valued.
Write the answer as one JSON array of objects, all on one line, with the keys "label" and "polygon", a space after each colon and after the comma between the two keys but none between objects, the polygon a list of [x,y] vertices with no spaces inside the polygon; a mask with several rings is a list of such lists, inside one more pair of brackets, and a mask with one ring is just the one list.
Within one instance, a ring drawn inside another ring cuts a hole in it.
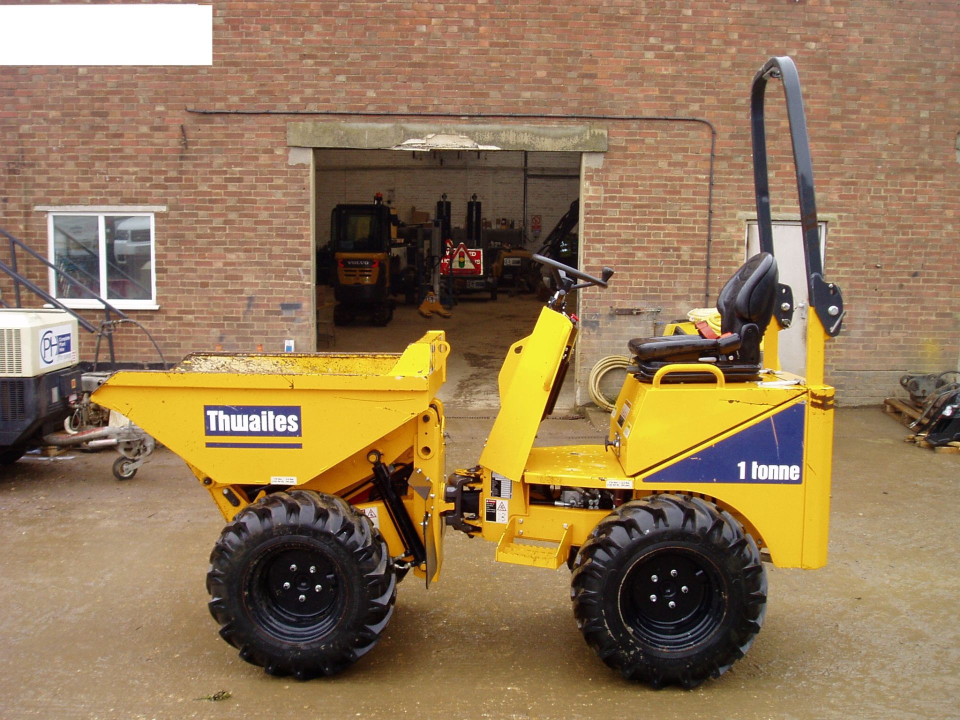
[{"label": "black wheel rim with studs beneath the Thwaites skip", "polygon": [[245,595],[252,618],[286,642],[328,635],[346,609],[340,567],[322,549],[305,542],[270,548],[252,565]]}]

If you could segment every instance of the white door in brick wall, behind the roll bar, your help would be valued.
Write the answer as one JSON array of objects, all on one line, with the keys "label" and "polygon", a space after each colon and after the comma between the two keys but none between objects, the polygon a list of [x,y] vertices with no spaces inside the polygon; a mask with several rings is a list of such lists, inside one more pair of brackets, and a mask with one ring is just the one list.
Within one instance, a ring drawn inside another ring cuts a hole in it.
[{"label": "white door in brick wall, behind the roll bar", "polygon": [[[786,372],[804,376],[806,372],[806,264],[804,261],[804,232],[800,222],[773,223],[774,255],[780,271],[780,282],[793,290],[793,324],[780,331],[780,367]],[[820,224],[820,259],[824,259],[827,245],[827,223]],[[747,223],[747,257],[760,252],[756,220]]]}]

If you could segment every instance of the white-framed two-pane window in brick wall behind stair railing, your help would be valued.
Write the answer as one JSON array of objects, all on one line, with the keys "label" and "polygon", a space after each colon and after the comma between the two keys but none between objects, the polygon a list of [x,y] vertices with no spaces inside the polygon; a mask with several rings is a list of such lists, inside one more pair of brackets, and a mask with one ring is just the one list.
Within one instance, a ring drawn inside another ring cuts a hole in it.
[{"label": "white-framed two-pane window in brick wall behind stair railing", "polygon": [[[64,210],[47,215],[48,256],[60,271],[121,310],[156,309],[153,212]],[[50,271],[50,294],[67,307],[103,305]]]}]

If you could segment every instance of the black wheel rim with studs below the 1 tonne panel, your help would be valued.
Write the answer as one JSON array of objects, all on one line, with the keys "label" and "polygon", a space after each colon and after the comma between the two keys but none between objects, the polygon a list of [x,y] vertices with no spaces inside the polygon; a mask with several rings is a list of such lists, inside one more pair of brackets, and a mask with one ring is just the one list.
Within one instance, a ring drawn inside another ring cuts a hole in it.
[{"label": "black wheel rim with studs below the 1 tonne panel", "polygon": [[627,630],[665,650],[689,650],[723,622],[725,593],[716,566],[677,547],[644,555],[623,576],[620,616]]}]

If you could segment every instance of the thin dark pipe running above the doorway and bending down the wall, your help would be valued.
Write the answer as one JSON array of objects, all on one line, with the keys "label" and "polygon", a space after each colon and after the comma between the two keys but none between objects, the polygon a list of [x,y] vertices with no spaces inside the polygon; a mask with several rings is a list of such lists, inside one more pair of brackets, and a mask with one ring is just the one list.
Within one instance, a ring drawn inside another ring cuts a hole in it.
[{"label": "thin dark pipe running above the doorway and bending down the wall", "polygon": [[702,117],[684,117],[682,115],[602,115],[580,113],[539,113],[539,112],[391,112],[377,110],[275,110],[242,109],[218,110],[204,108],[186,108],[187,112],[197,115],[315,115],[329,117],[443,117],[463,120],[606,120],[606,121],[644,121],[664,123],[700,123],[710,129],[710,171],[707,195],[707,269],[704,278],[704,298],[710,304],[710,265],[713,243],[713,162],[716,157],[717,131],[713,123]]}]

